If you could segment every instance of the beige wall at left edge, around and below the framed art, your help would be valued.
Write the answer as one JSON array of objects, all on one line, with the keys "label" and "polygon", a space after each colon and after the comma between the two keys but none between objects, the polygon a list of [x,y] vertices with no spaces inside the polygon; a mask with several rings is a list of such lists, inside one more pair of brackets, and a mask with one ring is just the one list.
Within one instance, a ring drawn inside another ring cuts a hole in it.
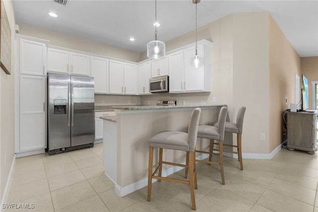
[{"label": "beige wall at left edge, around and below the framed art", "polygon": [[11,28],[11,75],[0,70],[0,199],[14,159],[14,13],[11,0],[3,1]]}]

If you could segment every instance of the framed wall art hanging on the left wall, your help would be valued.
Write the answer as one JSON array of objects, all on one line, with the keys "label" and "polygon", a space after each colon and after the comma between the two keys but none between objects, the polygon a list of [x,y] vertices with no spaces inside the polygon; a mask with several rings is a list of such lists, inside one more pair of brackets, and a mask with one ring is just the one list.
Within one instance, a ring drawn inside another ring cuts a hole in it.
[{"label": "framed wall art hanging on the left wall", "polygon": [[1,1],[0,67],[4,70],[6,74],[11,74],[11,29],[10,29],[9,20],[3,5],[3,0],[0,0],[0,1]]}]

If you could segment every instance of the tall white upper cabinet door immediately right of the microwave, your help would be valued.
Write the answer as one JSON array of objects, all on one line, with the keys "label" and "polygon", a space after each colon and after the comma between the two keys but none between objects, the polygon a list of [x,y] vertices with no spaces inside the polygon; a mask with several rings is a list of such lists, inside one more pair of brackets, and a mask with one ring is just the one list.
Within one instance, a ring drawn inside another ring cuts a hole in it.
[{"label": "tall white upper cabinet door immediately right of the microwave", "polygon": [[183,92],[183,51],[169,55],[169,93]]}]

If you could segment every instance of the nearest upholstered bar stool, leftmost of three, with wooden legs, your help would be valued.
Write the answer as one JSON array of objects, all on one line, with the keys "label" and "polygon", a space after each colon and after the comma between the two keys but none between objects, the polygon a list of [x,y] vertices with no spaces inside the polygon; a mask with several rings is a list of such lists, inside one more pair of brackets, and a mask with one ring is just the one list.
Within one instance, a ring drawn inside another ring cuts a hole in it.
[{"label": "nearest upholstered bar stool, leftmost of three, with wooden legs", "polygon": [[[148,141],[149,143],[148,194],[147,194],[148,202],[151,199],[151,189],[152,189],[153,178],[158,179],[159,181],[166,180],[166,181],[171,181],[176,183],[185,183],[190,185],[191,204],[192,204],[192,209],[195,210],[194,189],[198,188],[197,177],[196,177],[196,167],[195,167],[195,145],[197,142],[200,115],[201,115],[201,108],[198,107],[192,111],[190,123],[188,127],[188,133],[179,132],[179,131],[165,131],[165,132],[158,133],[157,135],[155,135]],[[156,168],[156,170],[153,172],[154,148],[159,148],[159,165]],[[189,162],[187,163],[188,165],[162,161],[163,149],[172,149],[172,150],[180,150],[180,151],[187,152],[189,154]],[[179,179],[174,179],[169,177],[162,177],[161,176],[162,164],[188,168],[190,170],[189,180],[179,180]],[[158,172],[158,176],[155,175],[157,172]]]}]

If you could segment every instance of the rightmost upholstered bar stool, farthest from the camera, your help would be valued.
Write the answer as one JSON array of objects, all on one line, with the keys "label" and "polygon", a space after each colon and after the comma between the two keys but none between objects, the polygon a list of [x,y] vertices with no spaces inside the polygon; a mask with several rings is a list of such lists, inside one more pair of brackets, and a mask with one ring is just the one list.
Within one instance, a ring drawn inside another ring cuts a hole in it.
[{"label": "rightmost upholstered bar stool, farthest from the camera", "polygon": [[[246,107],[241,106],[239,108],[238,114],[237,114],[237,122],[225,122],[225,132],[230,133],[236,133],[237,134],[237,145],[234,144],[223,144],[223,146],[230,146],[237,148],[237,151],[229,151],[229,150],[223,150],[223,152],[238,154],[239,158],[239,166],[240,170],[243,170],[243,161],[242,161],[242,131],[243,131],[243,120],[244,120],[244,114],[245,114]],[[212,125],[218,127],[218,122],[213,122]],[[217,143],[213,143],[217,144]],[[214,148],[212,144],[212,149]]]}]

